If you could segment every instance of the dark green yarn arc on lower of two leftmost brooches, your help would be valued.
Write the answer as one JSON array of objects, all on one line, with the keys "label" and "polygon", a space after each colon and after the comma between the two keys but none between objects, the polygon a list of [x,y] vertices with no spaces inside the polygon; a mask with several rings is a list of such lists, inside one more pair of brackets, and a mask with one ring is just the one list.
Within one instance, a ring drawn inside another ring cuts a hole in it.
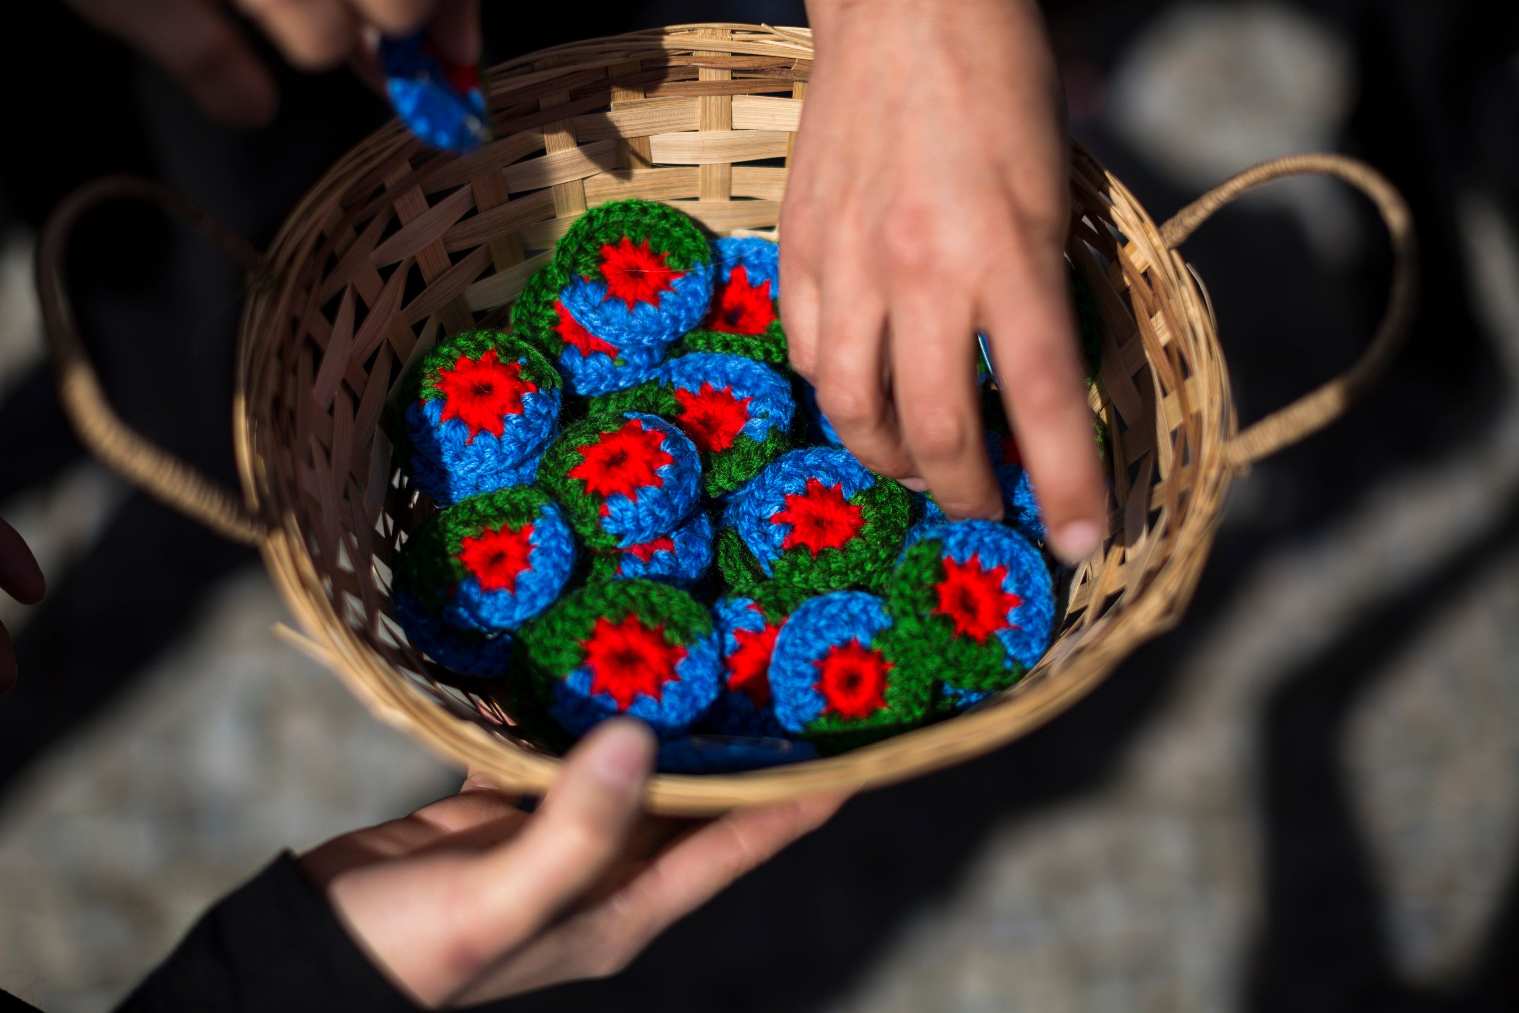
[{"label": "dark green yarn arc on lower of two leftmost brooches", "polygon": [[460,500],[422,521],[396,554],[392,586],[396,594],[416,597],[424,607],[444,607],[448,589],[469,574],[459,560],[463,539],[485,529],[500,530],[532,524],[551,500],[533,486],[507,486]]}]

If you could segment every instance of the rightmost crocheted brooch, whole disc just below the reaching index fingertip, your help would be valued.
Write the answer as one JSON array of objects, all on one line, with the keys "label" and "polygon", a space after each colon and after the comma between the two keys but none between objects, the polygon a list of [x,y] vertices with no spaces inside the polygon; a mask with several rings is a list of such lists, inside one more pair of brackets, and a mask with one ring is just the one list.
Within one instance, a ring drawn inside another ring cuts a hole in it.
[{"label": "rightmost crocheted brooch, whole disc just below the reaching index fingertip", "polygon": [[892,579],[889,653],[958,709],[1016,682],[1054,624],[1044,556],[1004,524],[943,524],[908,548]]}]

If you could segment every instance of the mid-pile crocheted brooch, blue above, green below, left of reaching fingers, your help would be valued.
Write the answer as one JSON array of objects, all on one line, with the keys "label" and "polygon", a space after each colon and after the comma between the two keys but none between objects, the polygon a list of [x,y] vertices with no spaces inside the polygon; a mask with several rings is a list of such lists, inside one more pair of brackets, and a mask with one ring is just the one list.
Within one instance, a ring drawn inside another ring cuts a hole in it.
[{"label": "mid-pile crocheted brooch, blue above, green below, left of reaching fingers", "polygon": [[668,419],[702,456],[702,489],[732,492],[791,448],[791,384],[741,355],[691,352],[656,378],[591,401],[591,413],[647,412]]}]

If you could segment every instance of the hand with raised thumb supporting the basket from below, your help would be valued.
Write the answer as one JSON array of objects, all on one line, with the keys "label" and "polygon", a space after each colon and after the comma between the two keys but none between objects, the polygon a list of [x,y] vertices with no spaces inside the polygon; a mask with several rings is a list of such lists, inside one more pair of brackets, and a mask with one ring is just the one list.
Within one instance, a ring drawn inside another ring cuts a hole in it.
[{"label": "hand with raised thumb supporting the basket from below", "polygon": [[425,1007],[611,975],[846,799],[647,817],[653,755],[647,726],[615,718],[571,750],[533,814],[472,773],[459,794],[301,863],[360,948]]}]

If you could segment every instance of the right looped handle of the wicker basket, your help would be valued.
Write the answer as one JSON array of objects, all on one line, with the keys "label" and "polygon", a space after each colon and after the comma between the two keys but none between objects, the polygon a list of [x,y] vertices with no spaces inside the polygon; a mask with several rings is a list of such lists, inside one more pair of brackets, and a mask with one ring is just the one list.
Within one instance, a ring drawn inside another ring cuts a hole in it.
[{"label": "right looped handle of the wicker basket", "polygon": [[1361,354],[1353,366],[1312,393],[1303,395],[1285,409],[1265,416],[1224,445],[1224,462],[1235,469],[1270,457],[1344,415],[1344,410],[1366,393],[1367,387],[1391,361],[1413,322],[1419,284],[1419,241],[1414,235],[1413,214],[1410,214],[1402,194],[1382,173],[1346,155],[1288,155],[1247,169],[1177,211],[1170,222],[1161,226],[1161,240],[1168,249],[1176,249],[1218,208],[1246,190],[1253,190],[1273,179],[1306,175],[1338,176],[1372,199],[1391,235],[1393,289],[1387,298],[1387,311],[1376,328],[1376,337],[1372,339],[1370,348]]}]

